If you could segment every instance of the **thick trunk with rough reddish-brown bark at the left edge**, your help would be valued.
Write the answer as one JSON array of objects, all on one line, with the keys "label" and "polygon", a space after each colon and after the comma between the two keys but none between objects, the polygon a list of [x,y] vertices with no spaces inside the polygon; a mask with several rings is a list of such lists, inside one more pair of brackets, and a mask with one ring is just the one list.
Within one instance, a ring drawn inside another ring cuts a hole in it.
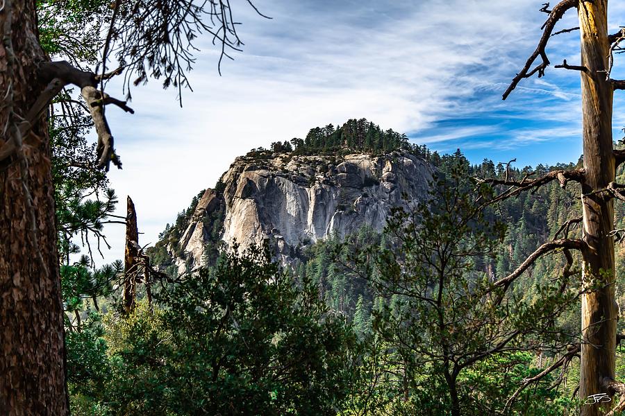
[{"label": "thick trunk with rough reddish-brown bark at the left edge", "polygon": [[[0,12],[0,148],[19,141],[17,123],[42,91],[36,82],[35,1],[6,0]],[[39,119],[33,146],[0,160],[0,409],[3,415],[67,415],[50,149]]]}]

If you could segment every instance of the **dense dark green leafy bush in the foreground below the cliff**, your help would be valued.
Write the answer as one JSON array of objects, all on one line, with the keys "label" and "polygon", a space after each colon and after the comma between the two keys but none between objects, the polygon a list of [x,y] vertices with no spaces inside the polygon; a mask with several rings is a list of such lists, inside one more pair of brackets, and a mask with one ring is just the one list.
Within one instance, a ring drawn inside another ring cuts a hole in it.
[{"label": "dense dark green leafy bush in the foreground below the cliff", "polygon": [[334,415],[346,395],[356,339],[310,284],[294,286],[266,253],[222,257],[161,291],[158,305],[106,316],[111,374],[99,395],[76,385],[83,410]]}]

